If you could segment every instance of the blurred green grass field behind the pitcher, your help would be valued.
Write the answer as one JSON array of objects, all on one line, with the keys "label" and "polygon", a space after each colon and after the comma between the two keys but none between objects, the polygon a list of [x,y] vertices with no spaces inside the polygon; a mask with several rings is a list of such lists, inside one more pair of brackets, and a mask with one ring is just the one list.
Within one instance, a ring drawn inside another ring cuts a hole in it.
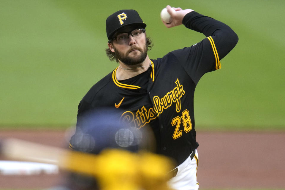
[{"label": "blurred green grass field behind the pitcher", "polygon": [[79,101],[116,63],[105,55],[105,20],[136,9],[154,47],[150,58],[193,45],[203,34],[167,29],[169,4],[220,20],[237,46],[195,92],[196,129],[285,129],[285,1],[0,0],[0,127],[62,127],[76,121]]}]

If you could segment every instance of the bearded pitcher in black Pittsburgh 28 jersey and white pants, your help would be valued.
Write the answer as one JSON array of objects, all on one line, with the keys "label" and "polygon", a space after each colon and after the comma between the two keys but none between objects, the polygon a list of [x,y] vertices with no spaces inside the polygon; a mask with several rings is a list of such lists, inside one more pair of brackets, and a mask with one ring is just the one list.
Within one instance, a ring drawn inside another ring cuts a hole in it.
[{"label": "bearded pitcher in black Pittsburgh 28 jersey and white pants", "polygon": [[99,107],[117,110],[121,121],[137,130],[151,126],[156,153],[176,162],[168,172],[170,187],[198,189],[194,91],[205,73],[221,68],[220,60],[235,47],[238,36],[218,20],[192,9],[172,8],[167,6],[172,17],[170,23],[163,22],[167,28],[184,25],[203,33],[205,39],[157,59],[148,56],[153,45],[137,11],[119,10],[107,18],[106,53],[118,67],[80,101],[77,130],[84,123],[82,115]]}]

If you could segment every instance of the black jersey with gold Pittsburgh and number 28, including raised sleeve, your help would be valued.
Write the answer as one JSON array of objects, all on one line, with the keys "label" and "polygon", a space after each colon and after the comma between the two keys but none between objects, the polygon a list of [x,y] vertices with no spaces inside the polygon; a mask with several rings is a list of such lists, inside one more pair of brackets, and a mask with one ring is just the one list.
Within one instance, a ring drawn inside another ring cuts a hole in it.
[{"label": "black jersey with gold Pittsburgh and number 28, including raised sleeve", "polygon": [[[149,124],[156,137],[157,153],[181,164],[198,147],[193,102],[195,87],[205,73],[221,68],[220,60],[238,42],[229,26],[194,11],[183,18],[183,24],[202,32],[206,38],[191,47],[151,59],[152,66],[147,71],[126,80],[116,79],[117,67],[80,101],[77,125],[88,110],[118,109],[121,119],[138,129]],[[213,97],[213,101],[215,99]]]}]

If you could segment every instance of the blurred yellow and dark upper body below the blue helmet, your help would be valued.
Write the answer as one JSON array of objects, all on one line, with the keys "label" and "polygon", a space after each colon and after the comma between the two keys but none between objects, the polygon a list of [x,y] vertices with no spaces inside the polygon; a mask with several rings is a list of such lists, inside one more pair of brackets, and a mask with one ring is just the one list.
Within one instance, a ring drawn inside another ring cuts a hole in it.
[{"label": "blurred yellow and dark upper body below the blue helmet", "polygon": [[[98,155],[70,156],[62,186],[50,190],[170,190],[167,181],[172,162],[149,152],[105,149]],[[80,160],[78,160],[80,159]]]}]

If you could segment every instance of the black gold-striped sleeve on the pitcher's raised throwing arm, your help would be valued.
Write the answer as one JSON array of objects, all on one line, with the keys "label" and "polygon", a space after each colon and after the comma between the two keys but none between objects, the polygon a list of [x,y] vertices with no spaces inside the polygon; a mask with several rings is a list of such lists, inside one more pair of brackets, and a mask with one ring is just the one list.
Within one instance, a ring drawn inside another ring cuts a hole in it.
[{"label": "black gold-striped sleeve on the pitcher's raised throwing arm", "polygon": [[226,24],[194,11],[183,18],[183,24],[206,36],[191,47],[171,52],[197,84],[205,73],[221,68],[220,60],[235,47],[238,36]]}]

